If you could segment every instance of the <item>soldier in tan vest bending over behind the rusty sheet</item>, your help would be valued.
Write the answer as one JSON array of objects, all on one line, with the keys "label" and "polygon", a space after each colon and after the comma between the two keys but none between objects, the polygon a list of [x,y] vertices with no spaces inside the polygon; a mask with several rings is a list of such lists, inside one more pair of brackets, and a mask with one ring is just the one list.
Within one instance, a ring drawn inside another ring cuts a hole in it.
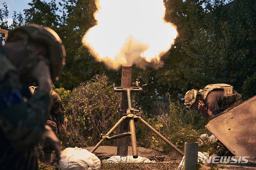
[{"label": "soldier in tan vest bending over behind the rusty sheet", "polygon": [[229,84],[209,84],[199,91],[189,90],[184,100],[186,107],[197,108],[206,118],[214,117],[243,102],[242,95]]}]

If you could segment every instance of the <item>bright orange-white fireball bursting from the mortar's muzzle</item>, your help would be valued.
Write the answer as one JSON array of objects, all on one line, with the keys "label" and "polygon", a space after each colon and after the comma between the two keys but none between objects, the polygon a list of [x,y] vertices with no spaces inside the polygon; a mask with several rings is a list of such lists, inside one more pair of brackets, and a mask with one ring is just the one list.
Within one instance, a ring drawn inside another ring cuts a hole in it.
[{"label": "bright orange-white fireball bursting from the mortar's muzzle", "polygon": [[82,39],[84,46],[110,68],[132,65],[140,57],[156,61],[174,44],[177,27],[164,20],[161,0],[95,0],[97,25]]}]

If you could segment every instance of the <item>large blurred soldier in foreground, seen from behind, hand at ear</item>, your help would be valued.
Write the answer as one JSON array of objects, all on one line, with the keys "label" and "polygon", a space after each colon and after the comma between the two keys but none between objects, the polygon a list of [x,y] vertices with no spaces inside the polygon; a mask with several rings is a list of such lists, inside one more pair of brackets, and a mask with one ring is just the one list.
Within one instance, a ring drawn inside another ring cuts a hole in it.
[{"label": "large blurred soldier in foreground, seen from behind, hand at ear", "polygon": [[[61,39],[48,27],[20,26],[0,48],[1,170],[37,170],[35,146],[40,140],[60,155],[60,142],[46,120],[52,82],[64,61]],[[33,96],[31,84],[39,85]]]}]

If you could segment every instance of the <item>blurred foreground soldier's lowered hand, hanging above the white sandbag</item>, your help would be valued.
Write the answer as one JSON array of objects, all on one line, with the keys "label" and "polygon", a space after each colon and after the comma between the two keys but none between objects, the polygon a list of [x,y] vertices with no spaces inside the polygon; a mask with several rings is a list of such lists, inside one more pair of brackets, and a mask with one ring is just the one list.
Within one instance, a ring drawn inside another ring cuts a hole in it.
[{"label": "blurred foreground soldier's lowered hand, hanging above the white sandbag", "polygon": [[60,160],[60,140],[56,137],[50,126],[45,125],[45,129],[46,130],[44,131],[42,138],[43,145],[48,144],[51,146],[52,149],[54,149],[56,157],[53,159],[52,164],[54,162],[58,163],[58,161]]}]

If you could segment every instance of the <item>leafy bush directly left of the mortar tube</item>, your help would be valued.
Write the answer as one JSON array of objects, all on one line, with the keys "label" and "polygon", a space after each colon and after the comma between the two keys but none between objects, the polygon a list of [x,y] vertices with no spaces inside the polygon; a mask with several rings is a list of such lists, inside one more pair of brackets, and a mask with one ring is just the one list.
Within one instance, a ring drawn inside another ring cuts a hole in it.
[{"label": "leafy bush directly left of the mortar tube", "polygon": [[119,93],[113,88],[107,76],[96,75],[72,91],[66,107],[67,133],[61,137],[65,146],[94,145],[100,133],[107,133],[116,123]]}]

